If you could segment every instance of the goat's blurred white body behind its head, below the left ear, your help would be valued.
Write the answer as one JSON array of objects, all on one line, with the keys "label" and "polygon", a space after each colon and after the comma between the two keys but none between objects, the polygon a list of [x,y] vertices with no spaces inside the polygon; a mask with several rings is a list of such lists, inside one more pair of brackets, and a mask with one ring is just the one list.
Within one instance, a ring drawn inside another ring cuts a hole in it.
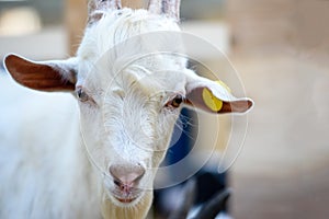
[{"label": "goat's blurred white body behind its head, below the left ear", "polygon": [[95,218],[98,188],[86,175],[72,96],[0,79],[0,218]]}]

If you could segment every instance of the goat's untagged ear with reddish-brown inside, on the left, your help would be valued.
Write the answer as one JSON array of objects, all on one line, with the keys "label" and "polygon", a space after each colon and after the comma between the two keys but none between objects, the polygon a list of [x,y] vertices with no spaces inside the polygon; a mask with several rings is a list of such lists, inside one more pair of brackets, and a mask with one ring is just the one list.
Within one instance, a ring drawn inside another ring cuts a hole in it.
[{"label": "goat's untagged ear with reddish-brown inside, on the left", "polygon": [[20,84],[38,91],[75,90],[76,59],[56,61],[31,61],[16,55],[4,58],[4,67]]}]

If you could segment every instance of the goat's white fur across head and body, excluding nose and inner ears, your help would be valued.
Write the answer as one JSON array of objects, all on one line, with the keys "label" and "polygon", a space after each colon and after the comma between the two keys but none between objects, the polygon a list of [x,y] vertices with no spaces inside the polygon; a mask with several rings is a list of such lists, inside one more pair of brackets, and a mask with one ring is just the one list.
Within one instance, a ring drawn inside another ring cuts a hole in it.
[{"label": "goat's white fur across head and body, excluding nose and inner ears", "polygon": [[[185,58],[168,55],[117,69],[126,57],[109,62],[109,49],[133,36],[180,28],[174,19],[146,10],[102,13],[86,30],[77,57],[42,62],[63,67],[68,80],[73,65],[76,87],[83,88],[89,101],[77,105],[70,94],[36,93],[0,80],[0,218],[138,219],[148,212],[156,169],[179,115],[179,108],[166,104],[178,94],[185,96],[197,81],[207,82],[186,69]],[[236,100],[208,83],[213,93]],[[118,188],[109,172],[122,163],[146,169],[139,196],[131,204],[114,197]]]}]

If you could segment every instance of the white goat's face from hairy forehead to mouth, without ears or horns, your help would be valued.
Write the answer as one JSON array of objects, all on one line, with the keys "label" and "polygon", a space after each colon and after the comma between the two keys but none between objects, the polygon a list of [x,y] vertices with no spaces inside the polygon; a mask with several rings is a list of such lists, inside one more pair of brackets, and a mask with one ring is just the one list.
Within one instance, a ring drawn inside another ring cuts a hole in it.
[{"label": "white goat's face from hairy forehead to mouth, without ears or horns", "polygon": [[159,30],[179,27],[145,10],[110,11],[88,27],[78,50],[83,139],[117,205],[133,205],[151,189],[186,94],[186,59],[154,55],[149,47],[157,46],[140,35]]}]

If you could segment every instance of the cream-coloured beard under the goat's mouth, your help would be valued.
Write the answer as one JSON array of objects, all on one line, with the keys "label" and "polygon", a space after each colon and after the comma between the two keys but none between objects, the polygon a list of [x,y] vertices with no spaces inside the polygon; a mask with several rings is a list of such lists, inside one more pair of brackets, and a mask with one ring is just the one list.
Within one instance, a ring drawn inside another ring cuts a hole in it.
[{"label": "cream-coloured beard under the goat's mouth", "polygon": [[102,214],[104,219],[111,218],[124,218],[126,219],[144,219],[152,203],[152,191],[144,192],[143,196],[136,200],[124,204],[120,201],[113,201],[112,198],[103,198]]}]

